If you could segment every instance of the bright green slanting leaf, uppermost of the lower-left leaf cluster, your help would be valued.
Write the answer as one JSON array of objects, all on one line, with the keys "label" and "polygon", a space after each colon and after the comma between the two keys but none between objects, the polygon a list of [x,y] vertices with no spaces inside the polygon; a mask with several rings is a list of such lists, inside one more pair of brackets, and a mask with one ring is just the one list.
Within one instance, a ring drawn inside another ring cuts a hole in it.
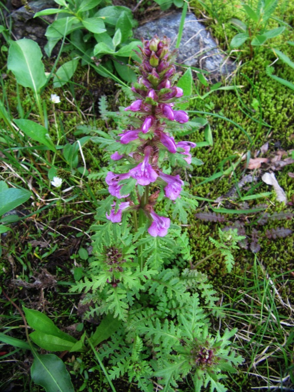
[{"label": "bright green slanting leaf, uppermost of the lower-left leaf cluster", "polygon": [[25,306],[23,306],[23,309],[26,321],[31,328],[38,332],[64,339],[68,342],[76,342],[75,338],[65,332],[62,332],[58,327],[56,327],[53,321],[44,313],[33,309],[27,309]]}]

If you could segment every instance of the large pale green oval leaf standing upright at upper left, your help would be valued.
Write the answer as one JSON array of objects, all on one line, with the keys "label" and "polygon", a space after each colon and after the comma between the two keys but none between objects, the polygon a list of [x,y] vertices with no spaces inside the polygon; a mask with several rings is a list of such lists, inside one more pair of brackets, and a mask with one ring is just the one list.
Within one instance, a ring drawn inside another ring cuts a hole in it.
[{"label": "large pale green oval leaf standing upright at upper left", "polygon": [[41,59],[42,52],[36,42],[25,38],[15,42],[11,41],[7,68],[14,73],[19,84],[29,87],[35,94],[47,82]]}]

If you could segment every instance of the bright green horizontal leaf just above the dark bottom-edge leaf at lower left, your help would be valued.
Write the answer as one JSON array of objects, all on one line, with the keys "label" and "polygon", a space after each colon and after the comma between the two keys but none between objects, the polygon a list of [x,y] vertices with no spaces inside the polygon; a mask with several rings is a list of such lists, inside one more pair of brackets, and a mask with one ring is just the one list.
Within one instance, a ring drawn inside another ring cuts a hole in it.
[{"label": "bright green horizontal leaf just above the dark bottom-edge leaf at lower left", "polygon": [[65,351],[70,350],[74,342],[59,338],[58,336],[50,335],[46,332],[34,331],[29,334],[31,340],[39,347],[47,351]]}]

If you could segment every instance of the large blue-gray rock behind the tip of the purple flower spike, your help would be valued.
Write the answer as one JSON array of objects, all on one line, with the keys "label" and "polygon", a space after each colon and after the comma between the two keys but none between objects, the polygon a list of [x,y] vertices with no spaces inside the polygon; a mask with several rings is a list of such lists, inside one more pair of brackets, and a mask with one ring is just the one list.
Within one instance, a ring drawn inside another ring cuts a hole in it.
[{"label": "large blue-gray rock behind the tip of the purple flower spike", "polygon": [[[147,22],[137,28],[135,37],[152,38],[155,34],[162,38],[171,38],[172,49],[175,48],[181,13],[172,13],[155,21]],[[211,73],[212,78],[219,79],[235,70],[236,66],[217,47],[205,26],[197,21],[192,13],[187,14],[182,39],[178,51],[177,62],[188,66],[204,69]]]}]

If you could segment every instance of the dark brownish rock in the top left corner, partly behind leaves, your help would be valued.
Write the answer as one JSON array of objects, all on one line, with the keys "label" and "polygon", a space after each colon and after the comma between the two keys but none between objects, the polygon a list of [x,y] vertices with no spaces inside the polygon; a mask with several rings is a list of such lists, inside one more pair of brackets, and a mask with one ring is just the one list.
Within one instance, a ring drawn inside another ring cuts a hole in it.
[{"label": "dark brownish rock in the top left corner, partly behind leaves", "polygon": [[53,0],[37,0],[30,1],[28,6],[23,6],[11,13],[13,21],[12,32],[16,39],[28,38],[36,41],[41,48],[47,43],[45,31],[49,23],[52,23],[55,15],[46,15],[42,18],[47,22],[43,22],[41,18],[34,18],[38,11],[46,8],[56,8]]}]

